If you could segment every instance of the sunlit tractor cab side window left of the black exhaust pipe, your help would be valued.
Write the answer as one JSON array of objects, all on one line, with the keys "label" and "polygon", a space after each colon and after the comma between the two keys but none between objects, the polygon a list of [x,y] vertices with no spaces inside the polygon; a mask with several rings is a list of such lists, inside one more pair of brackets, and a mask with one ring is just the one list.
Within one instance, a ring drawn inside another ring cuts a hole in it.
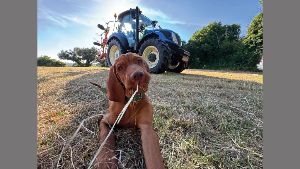
[{"label": "sunlit tractor cab side window left of the black exhaust pipe", "polygon": [[121,32],[126,36],[128,39],[129,46],[134,46],[135,40],[133,38],[134,36],[134,22],[135,19],[130,17],[130,15],[127,15],[123,18],[121,23]]}]

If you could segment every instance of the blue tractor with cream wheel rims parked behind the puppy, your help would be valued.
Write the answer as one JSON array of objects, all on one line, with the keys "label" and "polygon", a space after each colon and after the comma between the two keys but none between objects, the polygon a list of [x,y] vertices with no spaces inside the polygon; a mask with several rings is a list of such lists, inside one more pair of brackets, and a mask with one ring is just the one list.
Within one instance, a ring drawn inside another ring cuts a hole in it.
[{"label": "blue tractor with cream wheel rims parked behind the puppy", "polygon": [[[107,40],[109,66],[120,55],[132,52],[146,60],[151,73],[180,73],[187,67],[190,53],[180,48],[180,36],[174,31],[161,29],[157,26],[157,21],[144,16],[138,7],[119,14],[118,21],[118,31]],[[98,24],[98,27],[105,30],[102,25]],[[94,44],[99,45],[95,42]]]}]

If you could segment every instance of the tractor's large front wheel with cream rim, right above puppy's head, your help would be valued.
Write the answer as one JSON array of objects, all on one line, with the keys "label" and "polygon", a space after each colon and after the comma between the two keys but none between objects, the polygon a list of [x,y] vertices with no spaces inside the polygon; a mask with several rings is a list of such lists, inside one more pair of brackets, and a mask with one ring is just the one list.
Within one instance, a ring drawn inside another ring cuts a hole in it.
[{"label": "tractor's large front wheel with cream rim, right above puppy's head", "polygon": [[171,49],[168,44],[158,38],[149,38],[141,45],[139,55],[149,65],[150,73],[164,73],[170,65]]}]

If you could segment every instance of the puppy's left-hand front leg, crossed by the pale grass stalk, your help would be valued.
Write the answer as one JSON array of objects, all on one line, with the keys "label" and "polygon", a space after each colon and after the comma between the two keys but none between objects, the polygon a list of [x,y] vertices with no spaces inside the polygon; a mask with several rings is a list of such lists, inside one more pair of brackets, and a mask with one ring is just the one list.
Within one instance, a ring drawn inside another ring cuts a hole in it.
[{"label": "puppy's left-hand front leg, crossed by the pale grass stalk", "polygon": [[[105,121],[104,117],[100,121],[99,125],[99,143],[105,140],[108,133],[110,132],[110,127]],[[117,169],[118,168],[118,160],[116,158],[116,152],[113,150],[115,149],[116,142],[115,142],[115,134],[112,132],[108,137],[106,143],[104,144],[103,148],[97,155],[97,159],[94,162],[94,166],[97,169]]]}]

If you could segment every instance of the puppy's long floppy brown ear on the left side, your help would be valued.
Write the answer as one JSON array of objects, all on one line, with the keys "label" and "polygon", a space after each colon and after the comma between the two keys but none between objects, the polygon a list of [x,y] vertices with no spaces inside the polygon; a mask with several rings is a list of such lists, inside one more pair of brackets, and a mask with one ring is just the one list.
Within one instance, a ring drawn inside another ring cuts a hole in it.
[{"label": "puppy's long floppy brown ear on the left side", "polygon": [[125,101],[125,91],[121,84],[121,80],[117,77],[116,65],[112,65],[110,67],[107,77],[107,97],[110,101]]}]

